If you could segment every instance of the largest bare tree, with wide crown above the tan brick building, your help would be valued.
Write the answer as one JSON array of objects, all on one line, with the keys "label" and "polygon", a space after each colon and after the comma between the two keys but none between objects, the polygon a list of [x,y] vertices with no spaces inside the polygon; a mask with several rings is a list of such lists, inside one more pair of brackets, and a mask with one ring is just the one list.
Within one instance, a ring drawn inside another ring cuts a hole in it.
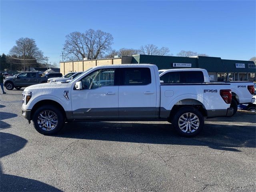
[{"label": "largest bare tree, with wide crown above the tan brick building", "polygon": [[83,58],[97,59],[111,50],[113,37],[101,30],[89,29],[84,33],[72,32],[66,36],[63,47],[66,58],[82,60]]}]

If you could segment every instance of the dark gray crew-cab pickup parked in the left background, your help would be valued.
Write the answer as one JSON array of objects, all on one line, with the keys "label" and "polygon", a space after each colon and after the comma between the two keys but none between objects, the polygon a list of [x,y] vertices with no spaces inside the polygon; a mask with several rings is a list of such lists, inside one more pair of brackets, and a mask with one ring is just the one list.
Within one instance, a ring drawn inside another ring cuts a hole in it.
[{"label": "dark gray crew-cab pickup parked in the left background", "polygon": [[16,77],[6,78],[4,86],[7,90],[21,89],[22,87],[28,87],[30,85],[46,83],[48,78],[61,77],[61,73],[48,73],[42,76],[41,72],[22,72]]}]

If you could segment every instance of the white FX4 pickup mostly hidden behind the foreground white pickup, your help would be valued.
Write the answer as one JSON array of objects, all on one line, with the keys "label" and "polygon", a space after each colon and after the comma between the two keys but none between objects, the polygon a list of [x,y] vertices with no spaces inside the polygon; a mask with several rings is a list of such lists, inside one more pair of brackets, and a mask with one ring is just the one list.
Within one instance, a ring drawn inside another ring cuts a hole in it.
[{"label": "white FX4 pickup mostly hidden behind the foreground white pickup", "polygon": [[[159,70],[160,80],[164,83],[209,83],[210,77],[207,70],[200,68],[193,69],[166,69]],[[221,82],[219,82],[221,83]],[[255,101],[254,84],[248,81],[223,82],[231,86],[233,115],[236,113],[238,104],[250,104]]]}]

